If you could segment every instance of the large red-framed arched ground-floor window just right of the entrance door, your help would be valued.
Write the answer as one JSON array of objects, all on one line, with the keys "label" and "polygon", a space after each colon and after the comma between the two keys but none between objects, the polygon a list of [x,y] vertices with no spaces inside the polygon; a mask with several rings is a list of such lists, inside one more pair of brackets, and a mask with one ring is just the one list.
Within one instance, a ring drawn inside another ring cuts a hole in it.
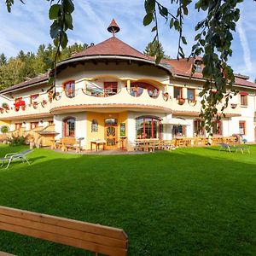
[{"label": "large red-framed arched ground-floor window just right of the entrance door", "polygon": [[157,117],[140,117],[136,120],[137,139],[161,138],[163,126]]}]

